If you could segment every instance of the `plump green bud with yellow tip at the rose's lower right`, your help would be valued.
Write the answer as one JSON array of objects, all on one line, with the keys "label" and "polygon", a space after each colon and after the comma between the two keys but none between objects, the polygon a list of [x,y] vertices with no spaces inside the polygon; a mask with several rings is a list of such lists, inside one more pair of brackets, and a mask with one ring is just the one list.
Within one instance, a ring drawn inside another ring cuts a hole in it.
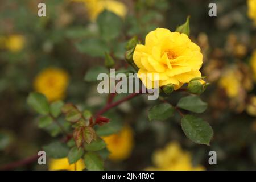
[{"label": "plump green bud with yellow tip at the rose's lower right", "polygon": [[201,94],[207,88],[207,82],[205,82],[202,78],[194,78],[189,81],[188,84],[188,92],[192,94]]}]

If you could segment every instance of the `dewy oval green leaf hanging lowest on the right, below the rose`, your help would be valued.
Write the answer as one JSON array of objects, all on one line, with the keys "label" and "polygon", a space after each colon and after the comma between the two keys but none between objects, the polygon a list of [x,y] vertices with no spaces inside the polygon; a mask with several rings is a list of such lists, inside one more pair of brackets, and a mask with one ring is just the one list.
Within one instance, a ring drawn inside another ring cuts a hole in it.
[{"label": "dewy oval green leaf hanging lowest on the right, below the rose", "polygon": [[185,135],[195,143],[209,145],[213,130],[209,123],[193,115],[185,115],[181,119],[181,127]]}]

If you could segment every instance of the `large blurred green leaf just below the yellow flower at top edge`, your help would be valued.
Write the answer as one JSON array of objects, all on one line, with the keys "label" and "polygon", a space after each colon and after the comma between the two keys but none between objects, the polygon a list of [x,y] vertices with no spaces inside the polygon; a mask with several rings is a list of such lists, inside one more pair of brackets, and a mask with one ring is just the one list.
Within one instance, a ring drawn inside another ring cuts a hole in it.
[{"label": "large blurred green leaf just below the yellow flower at top edge", "polygon": [[105,40],[117,38],[121,33],[122,19],[108,10],[104,10],[98,15],[97,24],[100,35]]}]

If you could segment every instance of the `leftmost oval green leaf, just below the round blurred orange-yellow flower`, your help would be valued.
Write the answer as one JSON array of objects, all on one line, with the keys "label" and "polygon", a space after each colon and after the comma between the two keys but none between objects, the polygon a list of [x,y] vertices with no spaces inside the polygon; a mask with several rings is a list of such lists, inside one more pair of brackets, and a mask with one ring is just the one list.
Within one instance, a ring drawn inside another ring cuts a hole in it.
[{"label": "leftmost oval green leaf, just below the round blurred orange-yellow flower", "polygon": [[49,104],[46,96],[43,94],[31,92],[28,95],[27,103],[39,114],[46,115],[49,113]]}]

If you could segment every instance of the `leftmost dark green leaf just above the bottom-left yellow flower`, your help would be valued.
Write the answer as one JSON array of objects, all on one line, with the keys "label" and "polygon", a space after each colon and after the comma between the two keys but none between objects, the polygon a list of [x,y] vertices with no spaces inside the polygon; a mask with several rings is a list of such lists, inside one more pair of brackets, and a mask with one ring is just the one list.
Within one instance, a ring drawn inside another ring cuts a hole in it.
[{"label": "leftmost dark green leaf just above the bottom-left yellow flower", "polygon": [[50,158],[65,158],[68,156],[69,148],[66,144],[60,142],[52,142],[43,147],[46,154]]}]

